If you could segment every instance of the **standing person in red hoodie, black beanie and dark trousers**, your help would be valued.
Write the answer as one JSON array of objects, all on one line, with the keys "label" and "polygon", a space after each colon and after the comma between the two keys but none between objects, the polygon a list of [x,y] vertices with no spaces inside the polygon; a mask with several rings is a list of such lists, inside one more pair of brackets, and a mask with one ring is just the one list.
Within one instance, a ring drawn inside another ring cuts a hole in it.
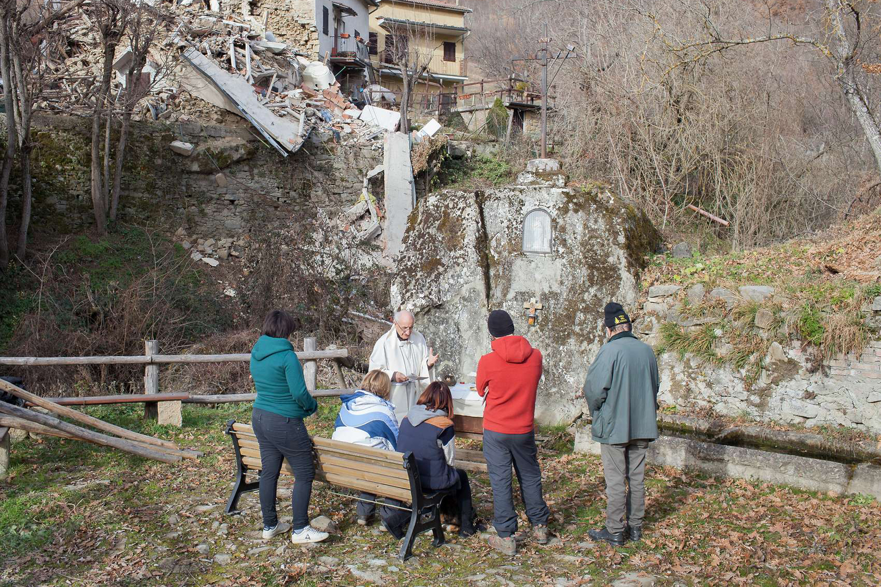
[{"label": "standing person in red hoodie, black beanie and dark trousers", "polygon": [[514,465],[526,516],[539,544],[546,544],[550,511],[542,496],[538,467],[536,414],[538,380],[542,378],[542,353],[514,334],[514,321],[504,310],[493,310],[487,320],[492,353],[478,362],[478,393],[485,398],[484,457],[492,486],[492,525],[497,536],[489,544],[514,555],[517,512],[514,509],[511,465]]}]

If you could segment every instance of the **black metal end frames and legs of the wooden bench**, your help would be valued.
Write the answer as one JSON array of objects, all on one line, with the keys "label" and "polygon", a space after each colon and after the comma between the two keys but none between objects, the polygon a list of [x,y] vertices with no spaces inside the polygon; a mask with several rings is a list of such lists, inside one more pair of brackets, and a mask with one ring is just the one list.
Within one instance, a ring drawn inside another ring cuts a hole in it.
[{"label": "black metal end frames and legs of the wooden bench", "polygon": [[[235,473],[235,485],[233,486],[233,493],[230,494],[229,500],[226,502],[226,513],[234,514],[238,513],[238,505],[239,498],[242,494],[248,493],[249,491],[256,491],[260,488],[260,481],[248,481],[245,477],[245,474],[248,471],[256,471],[259,475],[262,472],[262,469],[253,469],[245,465],[241,460],[241,448],[239,446],[239,438],[235,435],[235,430],[233,430],[233,424],[235,420],[230,420],[226,422],[226,434],[229,435],[230,438],[233,439],[233,450],[235,451],[235,463],[236,463],[236,473]],[[413,555],[413,543],[416,541],[416,537],[418,534],[422,532],[427,532],[429,530],[433,533],[432,546],[437,548],[441,547],[444,544],[444,534],[443,528],[441,527],[441,512],[440,506],[441,501],[447,495],[452,495],[453,490],[443,490],[436,491],[431,494],[426,494],[422,490],[422,484],[419,481],[419,469],[416,466],[416,457],[413,456],[412,452],[406,452],[403,455],[403,462],[401,464],[407,472],[407,476],[410,480],[410,494],[411,494],[411,507],[403,508],[404,510],[410,510],[410,525],[407,527],[407,533],[404,534],[403,544],[401,545],[401,553],[398,554],[398,557],[402,561],[406,561]],[[335,484],[336,485],[336,484]],[[344,487],[344,486],[338,486]],[[358,488],[350,488],[357,489]],[[423,521],[421,518],[424,514],[428,515],[428,518]]]}]

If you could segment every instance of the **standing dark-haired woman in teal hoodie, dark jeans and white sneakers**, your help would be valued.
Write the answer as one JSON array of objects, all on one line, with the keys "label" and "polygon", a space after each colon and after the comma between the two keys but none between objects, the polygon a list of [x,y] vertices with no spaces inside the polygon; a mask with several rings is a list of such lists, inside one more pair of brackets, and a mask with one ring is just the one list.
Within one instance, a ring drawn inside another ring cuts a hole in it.
[{"label": "standing dark-haired woman in teal hoodie, dark jeans and white sneakers", "polygon": [[[263,332],[251,349],[251,378],[257,391],[251,424],[260,443],[260,508],[263,510],[263,538],[293,528],[294,544],[321,542],[328,537],[309,525],[309,497],[315,465],[312,440],[303,418],[315,414],[318,404],[306,389],[303,368],[288,336],[293,319],[287,312],[273,310],[263,320]],[[276,488],[282,460],[287,459],[294,475],[291,506],[293,523],[278,522]]]}]

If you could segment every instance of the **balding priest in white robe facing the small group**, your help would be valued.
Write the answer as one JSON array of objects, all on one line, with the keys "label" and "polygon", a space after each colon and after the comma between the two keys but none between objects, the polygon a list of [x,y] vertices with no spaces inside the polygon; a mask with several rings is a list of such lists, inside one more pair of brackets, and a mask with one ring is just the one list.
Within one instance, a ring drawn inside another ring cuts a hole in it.
[{"label": "balding priest in white robe facing the small group", "polygon": [[396,312],[391,330],[376,341],[370,354],[370,371],[380,369],[391,379],[389,400],[395,404],[398,422],[433,381],[438,360],[434,349],[426,345],[426,337],[413,330],[413,321],[411,312]]}]

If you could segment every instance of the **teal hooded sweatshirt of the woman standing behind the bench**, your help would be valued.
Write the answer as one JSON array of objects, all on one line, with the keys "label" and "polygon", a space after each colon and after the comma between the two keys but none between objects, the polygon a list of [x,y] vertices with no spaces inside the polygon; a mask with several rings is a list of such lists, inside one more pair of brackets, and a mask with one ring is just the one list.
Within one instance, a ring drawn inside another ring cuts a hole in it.
[{"label": "teal hooded sweatshirt of the woman standing behind the bench", "polygon": [[303,368],[291,341],[265,334],[251,349],[251,377],[257,390],[254,407],[288,418],[315,414],[318,404],[306,389]]}]

